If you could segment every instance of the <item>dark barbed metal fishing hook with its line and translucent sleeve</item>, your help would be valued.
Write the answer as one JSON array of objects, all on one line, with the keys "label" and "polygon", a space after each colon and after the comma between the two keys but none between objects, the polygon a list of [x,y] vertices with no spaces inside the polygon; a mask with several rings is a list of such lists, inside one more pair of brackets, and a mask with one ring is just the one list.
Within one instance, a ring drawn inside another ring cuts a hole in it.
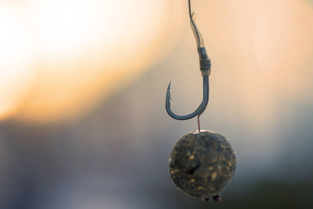
[{"label": "dark barbed metal fishing hook with its line and translucent sleeve", "polygon": [[[190,118],[193,118],[198,115],[198,128],[199,126],[199,116],[205,111],[208,105],[209,101],[209,75],[211,74],[211,60],[209,59],[206,48],[204,46],[204,41],[202,38],[201,33],[199,32],[196,24],[195,24],[195,13],[193,12],[191,14],[191,9],[190,9],[190,0],[188,0],[189,3],[189,16],[190,16],[190,25],[194,34],[194,37],[197,41],[197,50],[199,54],[199,62],[200,62],[200,71],[203,76],[203,100],[200,103],[199,107],[191,114],[189,115],[176,115],[171,111],[171,96],[170,96],[170,91],[171,91],[171,82],[169,83],[167,87],[167,92],[166,92],[166,111],[167,113],[174,119],[177,120],[187,120]],[[200,130],[200,128],[199,128]]]}]

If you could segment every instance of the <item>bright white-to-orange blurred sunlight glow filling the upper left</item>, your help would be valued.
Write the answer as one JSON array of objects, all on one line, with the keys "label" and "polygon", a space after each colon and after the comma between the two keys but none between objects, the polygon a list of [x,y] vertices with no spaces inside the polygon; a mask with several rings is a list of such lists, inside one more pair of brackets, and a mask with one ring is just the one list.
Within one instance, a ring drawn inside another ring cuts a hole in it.
[{"label": "bright white-to-orange blurred sunlight glow filling the upper left", "polygon": [[176,43],[181,10],[173,17],[173,4],[177,1],[1,5],[0,79],[6,91],[0,117],[15,112],[19,119],[55,120],[123,88]]}]

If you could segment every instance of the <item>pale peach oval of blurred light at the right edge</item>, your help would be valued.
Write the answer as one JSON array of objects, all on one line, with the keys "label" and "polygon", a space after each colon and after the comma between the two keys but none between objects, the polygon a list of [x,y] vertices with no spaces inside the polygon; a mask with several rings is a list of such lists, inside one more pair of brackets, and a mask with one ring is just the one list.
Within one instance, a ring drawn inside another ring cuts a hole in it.
[{"label": "pale peach oval of blurred light at the right edge", "polygon": [[312,14],[308,3],[277,1],[266,5],[257,20],[258,62],[266,78],[275,83],[276,91],[286,97],[303,90],[305,83],[310,82],[308,75],[312,73],[306,68],[313,54]]}]

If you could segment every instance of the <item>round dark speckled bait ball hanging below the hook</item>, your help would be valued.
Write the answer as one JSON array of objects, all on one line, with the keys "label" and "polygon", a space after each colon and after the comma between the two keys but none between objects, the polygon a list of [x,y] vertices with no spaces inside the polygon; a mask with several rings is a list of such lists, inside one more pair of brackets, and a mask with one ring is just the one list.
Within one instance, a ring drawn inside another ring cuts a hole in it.
[{"label": "round dark speckled bait ball hanging below the hook", "polygon": [[186,195],[207,200],[218,196],[230,183],[236,156],[222,135],[192,131],[176,141],[169,157],[173,183]]}]

